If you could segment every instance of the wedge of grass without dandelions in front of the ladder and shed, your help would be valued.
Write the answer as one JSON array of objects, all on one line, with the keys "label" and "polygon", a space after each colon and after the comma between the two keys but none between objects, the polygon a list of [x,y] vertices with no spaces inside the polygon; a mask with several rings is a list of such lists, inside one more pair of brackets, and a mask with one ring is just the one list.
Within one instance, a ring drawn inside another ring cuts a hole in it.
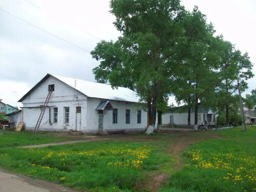
[{"label": "wedge of grass without dandelions in front of the ladder and shed", "polygon": [[17,147],[34,144],[45,144],[54,142],[63,142],[68,140],[75,140],[68,137],[55,137],[49,135],[47,132],[38,132],[39,135],[34,135],[31,131],[0,131],[0,147]]}]

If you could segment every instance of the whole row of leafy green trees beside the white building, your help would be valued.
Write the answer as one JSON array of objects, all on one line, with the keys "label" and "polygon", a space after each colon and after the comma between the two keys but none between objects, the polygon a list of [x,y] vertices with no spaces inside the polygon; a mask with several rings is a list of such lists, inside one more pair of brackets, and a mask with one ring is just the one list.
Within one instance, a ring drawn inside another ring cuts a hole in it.
[{"label": "whole row of leafy green trees beside the white building", "polygon": [[198,124],[199,101],[212,109],[217,102],[225,105],[228,116],[235,82],[246,89],[252,63],[248,53],[214,36],[212,23],[198,7],[188,12],[180,0],[110,0],[110,13],[122,35],[115,42],[100,41],[91,51],[99,61],[93,69],[97,82],[137,91],[150,125],[157,111],[167,111],[170,94],[187,104],[189,125],[193,105]]}]

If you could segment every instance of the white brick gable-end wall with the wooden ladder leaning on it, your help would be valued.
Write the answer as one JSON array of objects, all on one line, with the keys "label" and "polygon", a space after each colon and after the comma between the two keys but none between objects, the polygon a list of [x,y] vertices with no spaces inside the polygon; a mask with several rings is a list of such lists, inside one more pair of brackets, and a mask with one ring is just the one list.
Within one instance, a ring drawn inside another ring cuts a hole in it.
[{"label": "white brick gable-end wall with the wooden ladder leaning on it", "polygon": [[[75,83],[75,82],[74,82]],[[75,93],[78,99],[74,98],[74,89],[67,86],[65,83],[56,80],[53,77],[49,77],[45,80],[37,89],[35,89],[22,103],[23,107],[35,107],[44,105],[45,99],[48,94],[48,85],[54,84],[54,91],[49,99],[48,106],[51,107],[51,122],[53,122],[53,107],[58,108],[58,122],[49,123],[49,108],[46,108],[44,117],[41,121],[40,130],[47,131],[68,131],[69,129],[76,128],[76,106],[81,106],[81,114],[84,114],[81,118],[81,129],[86,128],[86,105],[87,98],[81,93]],[[64,123],[64,107],[69,107],[69,123]],[[25,123],[25,129],[34,129],[37,123],[40,108],[24,108],[23,109],[23,121]]]}]

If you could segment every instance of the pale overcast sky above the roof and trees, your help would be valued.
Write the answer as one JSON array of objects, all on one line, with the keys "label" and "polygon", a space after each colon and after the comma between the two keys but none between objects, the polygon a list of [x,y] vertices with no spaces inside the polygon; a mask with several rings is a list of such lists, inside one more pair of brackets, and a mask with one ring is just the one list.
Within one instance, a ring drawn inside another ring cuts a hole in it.
[{"label": "pale overcast sky above the roof and trees", "polygon": [[[249,52],[256,63],[256,0],[183,0],[181,4],[189,11],[197,5],[214,24],[216,35],[223,34],[236,49]],[[115,41],[120,35],[107,0],[0,0],[0,8],[80,47],[0,10],[0,99],[13,106],[22,106],[17,101],[47,73],[94,80],[92,69],[99,63],[89,52],[100,39]],[[248,82],[243,95],[256,89],[256,78]]]}]

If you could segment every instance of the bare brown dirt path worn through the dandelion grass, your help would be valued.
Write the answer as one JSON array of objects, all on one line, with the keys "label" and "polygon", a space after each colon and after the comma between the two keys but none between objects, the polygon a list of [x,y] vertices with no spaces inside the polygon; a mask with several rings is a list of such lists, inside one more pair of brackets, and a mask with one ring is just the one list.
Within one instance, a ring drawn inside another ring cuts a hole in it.
[{"label": "bare brown dirt path worn through the dandelion grass", "polygon": [[[159,131],[159,133],[167,136],[167,138],[162,138],[163,140],[169,140],[169,142],[166,143],[166,154],[169,154],[170,157],[175,160],[173,172],[181,169],[182,165],[184,165],[185,157],[182,157],[181,153],[186,150],[187,147],[191,146],[191,144],[205,139],[220,138],[218,135],[215,135],[214,132],[193,132],[191,129],[162,129],[162,131]],[[159,140],[158,137],[145,137],[140,135],[120,135],[117,136],[116,139],[131,142],[136,140],[151,140],[152,142],[154,142],[154,140]],[[148,176],[146,179],[146,182],[138,184],[139,186],[136,186],[136,188],[138,191],[145,189],[147,192],[157,192],[161,185],[165,184],[169,177],[170,173],[152,172],[151,176]]]}]

